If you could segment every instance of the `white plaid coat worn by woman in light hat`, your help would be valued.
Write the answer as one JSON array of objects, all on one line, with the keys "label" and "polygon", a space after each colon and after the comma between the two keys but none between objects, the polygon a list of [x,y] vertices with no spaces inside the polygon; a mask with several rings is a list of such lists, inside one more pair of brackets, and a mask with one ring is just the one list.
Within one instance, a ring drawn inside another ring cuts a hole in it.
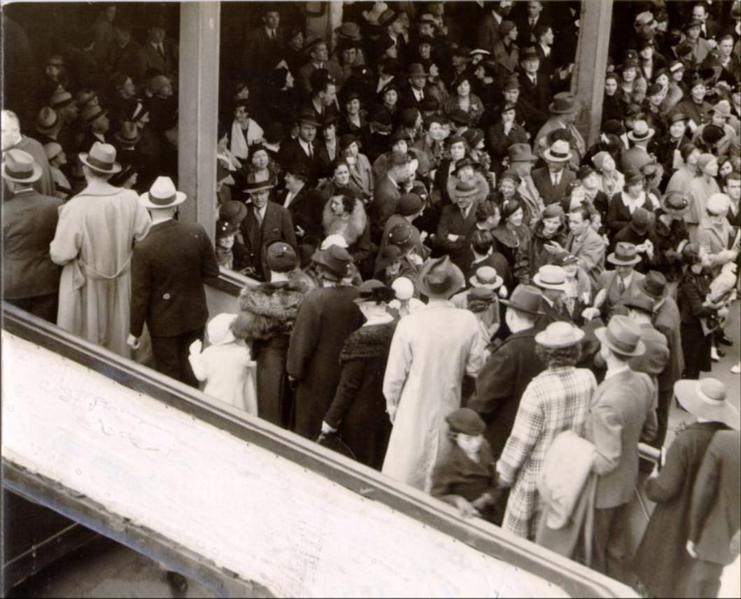
[{"label": "white plaid coat worn by woman in light hat", "polygon": [[537,529],[538,490],[545,452],[562,431],[582,435],[592,394],[594,374],[573,366],[547,368],[525,388],[514,427],[496,463],[499,482],[511,486],[502,526],[533,540]]}]

